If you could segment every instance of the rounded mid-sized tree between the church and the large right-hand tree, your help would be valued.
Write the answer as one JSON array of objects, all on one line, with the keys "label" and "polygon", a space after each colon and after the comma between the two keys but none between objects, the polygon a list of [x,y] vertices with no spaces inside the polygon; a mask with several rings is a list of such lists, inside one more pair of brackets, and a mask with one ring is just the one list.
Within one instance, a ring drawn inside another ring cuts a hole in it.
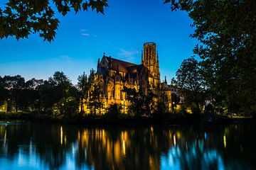
[{"label": "rounded mid-sized tree between the church and the large right-hand tree", "polygon": [[201,113],[200,106],[206,101],[206,83],[200,71],[199,63],[195,58],[190,57],[183,60],[176,72],[178,89],[193,113]]}]

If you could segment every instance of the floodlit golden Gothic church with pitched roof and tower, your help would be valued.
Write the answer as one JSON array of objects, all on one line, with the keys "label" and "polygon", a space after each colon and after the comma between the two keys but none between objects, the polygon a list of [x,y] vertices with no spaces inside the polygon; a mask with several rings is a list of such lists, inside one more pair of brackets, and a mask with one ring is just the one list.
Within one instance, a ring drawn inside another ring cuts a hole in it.
[{"label": "floodlit golden Gothic church with pitched roof and tower", "polygon": [[[164,96],[162,100],[166,104],[166,111],[171,111],[171,88],[166,79],[163,82],[160,80],[159,56],[154,42],[144,43],[141,64],[117,60],[104,54],[97,63],[95,83],[100,84],[102,90],[103,105],[98,113],[105,113],[105,109],[113,103],[121,104],[122,113],[127,113],[129,101],[123,91],[124,86],[136,91],[141,89],[143,94],[151,89],[156,95],[154,101]],[[90,113],[90,108],[85,106],[84,109],[86,113]]]}]

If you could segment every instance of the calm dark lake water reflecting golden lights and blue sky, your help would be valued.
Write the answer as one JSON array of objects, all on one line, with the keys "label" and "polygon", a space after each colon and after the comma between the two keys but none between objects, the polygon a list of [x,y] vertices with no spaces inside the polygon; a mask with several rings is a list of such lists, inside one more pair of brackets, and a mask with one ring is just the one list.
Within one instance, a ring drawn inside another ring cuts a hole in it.
[{"label": "calm dark lake water reflecting golden lights and blue sky", "polygon": [[0,123],[0,169],[256,169],[256,125]]}]

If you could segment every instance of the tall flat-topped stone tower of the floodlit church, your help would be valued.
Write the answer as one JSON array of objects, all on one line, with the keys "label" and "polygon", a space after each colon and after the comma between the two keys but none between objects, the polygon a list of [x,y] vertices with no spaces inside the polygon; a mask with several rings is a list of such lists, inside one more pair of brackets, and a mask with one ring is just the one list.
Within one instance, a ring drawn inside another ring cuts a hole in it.
[{"label": "tall flat-topped stone tower of the floodlit church", "polygon": [[155,87],[160,86],[160,72],[159,72],[159,57],[156,52],[156,43],[144,43],[144,52],[142,56],[142,64],[149,69],[150,74],[153,76],[153,84]]}]

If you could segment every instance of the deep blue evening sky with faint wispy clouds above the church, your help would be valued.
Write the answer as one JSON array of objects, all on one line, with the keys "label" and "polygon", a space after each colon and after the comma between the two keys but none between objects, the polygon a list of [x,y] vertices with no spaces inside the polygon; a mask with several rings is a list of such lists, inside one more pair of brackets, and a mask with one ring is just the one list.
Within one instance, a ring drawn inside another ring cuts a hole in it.
[{"label": "deep blue evening sky with faint wispy clouds above the church", "polygon": [[[7,1],[7,0],[5,0]],[[181,62],[193,55],[197,41],[188,14],[172,12],[164,0],[110,0],[105,15],[95,11],[60,16],[53,42],[37,34],[28,39],[0,40],[0,76],[20,74],[26,80],[48,79],[63,71],[73,82],[96,69],[103,52],[119,60],[140,63],[144,42],[156,42],[161,79],[175,76]],[[0,6],[3,6],[1,1]]]}]

